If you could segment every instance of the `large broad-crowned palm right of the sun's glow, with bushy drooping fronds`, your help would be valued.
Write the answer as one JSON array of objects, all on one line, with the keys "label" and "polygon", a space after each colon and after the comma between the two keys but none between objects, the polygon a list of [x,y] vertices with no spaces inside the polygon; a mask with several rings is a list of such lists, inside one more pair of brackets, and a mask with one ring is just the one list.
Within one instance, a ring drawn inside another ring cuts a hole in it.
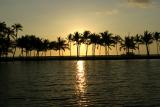
[{"label": "large broad-crowned palm right of the sun's glow, with bushy drooping fronds", "polygon": [[111,49],[110,46],[114,46],[114,40],[112,37],[112,33],[109,33],[108,31],[100,33],[102,36],[102,40],[105,46],[105,54],[109,55],[109,50]]}]

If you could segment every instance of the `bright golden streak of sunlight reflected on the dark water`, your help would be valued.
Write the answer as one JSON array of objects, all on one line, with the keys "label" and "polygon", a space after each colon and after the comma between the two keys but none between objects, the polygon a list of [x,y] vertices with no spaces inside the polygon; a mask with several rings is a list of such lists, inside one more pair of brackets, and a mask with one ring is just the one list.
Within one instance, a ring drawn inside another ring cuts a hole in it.
[{"label": "bright golden streak of sunlight reflected on the dark water", "polygon": [[76,71],[76,95],[78,98],[78,104],[80,106],[86,106],[89,102],[85,96],[87,89],[86,83],[86,71],[85,71],[85,62],[77,62],[77,71]]}]

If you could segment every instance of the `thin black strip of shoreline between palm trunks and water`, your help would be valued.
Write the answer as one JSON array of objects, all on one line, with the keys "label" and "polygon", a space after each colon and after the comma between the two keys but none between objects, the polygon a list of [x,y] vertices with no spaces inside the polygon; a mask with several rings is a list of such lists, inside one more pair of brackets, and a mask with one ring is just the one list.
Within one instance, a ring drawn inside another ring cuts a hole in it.
[{"label": "thin black strip of shoreline between palm trunks and water", "polygon": [[134,60],[134,59],[160,59],[160,55],[134,55],[134,56],[46,56],[46,57],[12,57],[0,58],[0,62],[11,62],[11,61],[47,61],[47,60]]}]

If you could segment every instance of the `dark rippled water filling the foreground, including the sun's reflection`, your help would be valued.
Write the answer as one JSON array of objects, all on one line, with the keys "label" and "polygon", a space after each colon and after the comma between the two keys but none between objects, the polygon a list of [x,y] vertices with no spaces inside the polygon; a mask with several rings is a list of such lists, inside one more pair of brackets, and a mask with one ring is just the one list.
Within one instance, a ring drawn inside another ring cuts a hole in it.
[{"label": "dark rippled water filling the foreground, including the sun's reflection", "polygon": [[160,60],[0,63],[0,107],[160,107]]}]

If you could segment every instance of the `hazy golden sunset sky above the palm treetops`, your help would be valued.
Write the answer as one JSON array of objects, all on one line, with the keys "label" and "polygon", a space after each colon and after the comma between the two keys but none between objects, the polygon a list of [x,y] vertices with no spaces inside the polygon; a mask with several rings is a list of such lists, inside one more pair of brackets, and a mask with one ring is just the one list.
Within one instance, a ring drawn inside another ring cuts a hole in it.
[{"label": "hazy golden sunset sky above the palm treetops", "polygon": [[0,21],[50,40],[75,31],[125,36],[160,29],[159,0],[0,0]]}]

